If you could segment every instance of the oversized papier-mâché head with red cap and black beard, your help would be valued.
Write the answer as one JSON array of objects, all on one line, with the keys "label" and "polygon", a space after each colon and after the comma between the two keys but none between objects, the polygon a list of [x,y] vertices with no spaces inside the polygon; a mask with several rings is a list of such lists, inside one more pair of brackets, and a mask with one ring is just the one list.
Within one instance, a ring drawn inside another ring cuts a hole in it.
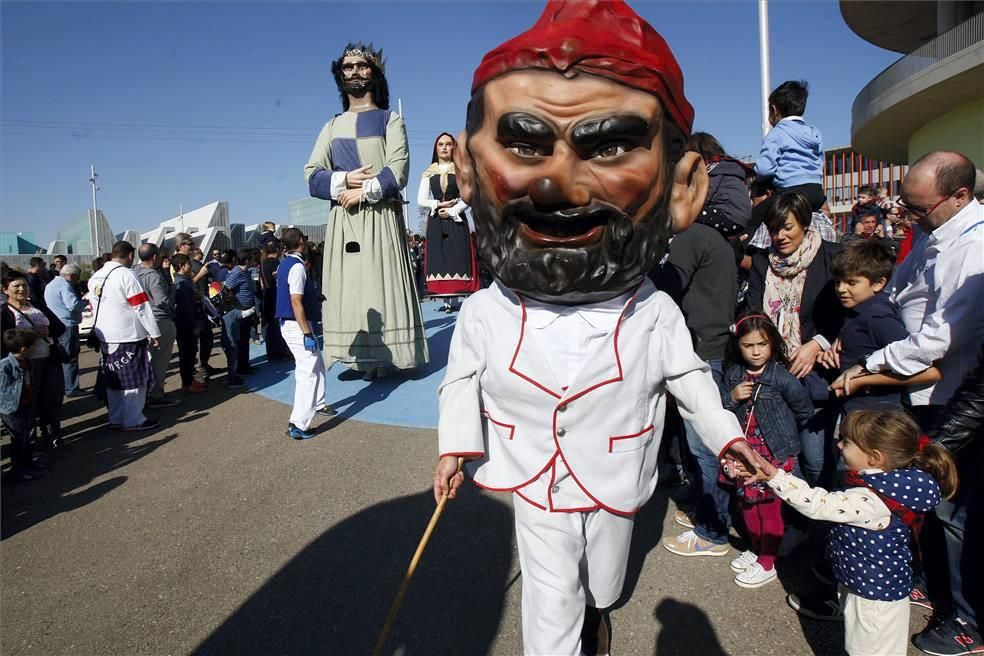
[{"label": "oversized papier-m\u00e2ch\u00e9 head with red cap and black beard", "polygon": [[628,5],[548,2],[485,55],[455,149],[486,265],[566,305],[638,285],[703,205],[692,123],[676,59]]}]

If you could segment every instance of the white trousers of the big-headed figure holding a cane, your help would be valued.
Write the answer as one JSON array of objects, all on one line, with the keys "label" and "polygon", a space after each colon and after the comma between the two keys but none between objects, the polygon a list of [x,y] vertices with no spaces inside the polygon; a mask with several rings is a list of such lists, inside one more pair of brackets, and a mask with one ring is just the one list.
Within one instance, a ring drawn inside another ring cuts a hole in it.
[{"label": "white trousers of the big-headed figure holding a cane", "polygon": [[513,495],[523,572],[523,652],[579,656],[584,606],[622,594],[632,517],[605,510],[549,512]]}]

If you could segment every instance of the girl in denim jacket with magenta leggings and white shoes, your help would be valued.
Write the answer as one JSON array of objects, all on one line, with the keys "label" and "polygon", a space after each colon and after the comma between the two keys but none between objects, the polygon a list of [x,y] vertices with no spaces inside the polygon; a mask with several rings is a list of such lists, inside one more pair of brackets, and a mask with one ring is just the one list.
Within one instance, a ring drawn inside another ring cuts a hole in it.
[{"label": "girl in denim jacket with magenta leggings and white shoes", "polygon": [[[772,320],[759,313],[739,317],[725,355],[722,402],[738,416],[753,449],[776,467],[792,471],[801,449],[800,427],[813,416],[813,404],[787,366],[786,345]],[[737,585],[757,588],[776,578],[776,555],[785,532],[782,503],[765,483],[738,486],[751,548],[731,562],[731,569]]]}]

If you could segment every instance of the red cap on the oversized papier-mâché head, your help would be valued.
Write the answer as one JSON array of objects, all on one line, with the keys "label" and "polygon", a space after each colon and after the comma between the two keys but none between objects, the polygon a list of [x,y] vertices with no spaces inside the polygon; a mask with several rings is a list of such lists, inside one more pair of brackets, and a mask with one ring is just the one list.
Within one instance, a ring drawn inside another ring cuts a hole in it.
[{"label": "red cap on the oversized papier-m\u00e2ch\u00e9 head", "polygon": [[621,0],[548,0],[536,24],[485,55],[472,93],[500,75],[524,69],[577,69],[648,91],[686,135],[694,108],[683,73],[663,37]]}]

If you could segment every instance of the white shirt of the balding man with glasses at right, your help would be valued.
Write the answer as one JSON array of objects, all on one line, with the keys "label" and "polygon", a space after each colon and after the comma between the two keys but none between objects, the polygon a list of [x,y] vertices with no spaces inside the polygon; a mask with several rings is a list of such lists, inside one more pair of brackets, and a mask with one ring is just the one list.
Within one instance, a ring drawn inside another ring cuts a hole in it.
[{"label": "white shirt of the balding man with glasses at right", "polygon": [[971,199],[949,221],[923,233],[892,277],[891,299],[910,335],[875,351],[870,371],[911,376],[934,363],[935,385],[911,386],[914,406],[941,405],[977,363],[984,343],[984,217]]}]

